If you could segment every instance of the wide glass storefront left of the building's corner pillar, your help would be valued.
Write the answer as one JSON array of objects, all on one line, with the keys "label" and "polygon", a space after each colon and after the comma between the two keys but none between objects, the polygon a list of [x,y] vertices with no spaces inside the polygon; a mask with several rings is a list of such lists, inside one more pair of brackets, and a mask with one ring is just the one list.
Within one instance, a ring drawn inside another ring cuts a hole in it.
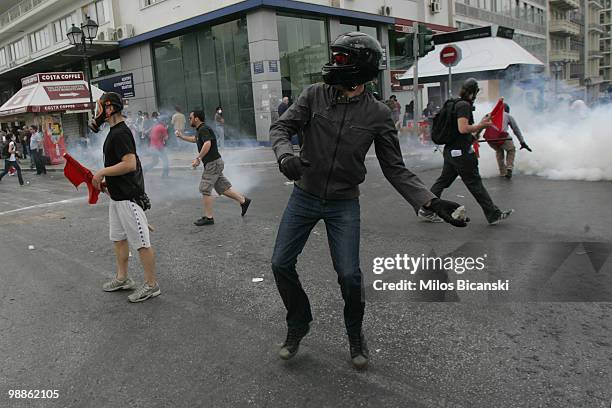
[{"label": "wide glass storefront left of the building's corner pillar", "polygon": [[226,140],[255,139],[246,18],[155,42],[153,54],[161,111],[203,109],[213,125],[222,106]]}]

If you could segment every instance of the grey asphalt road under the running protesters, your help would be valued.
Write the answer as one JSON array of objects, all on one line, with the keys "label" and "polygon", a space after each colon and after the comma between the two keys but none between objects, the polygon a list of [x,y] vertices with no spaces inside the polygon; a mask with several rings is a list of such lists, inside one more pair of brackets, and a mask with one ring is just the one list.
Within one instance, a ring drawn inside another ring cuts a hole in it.
[{"label": "grey asphalt road under the running protesters", "polygon": [[[431,185],[435,161],[409,163]],[[516,210],[492,227],[458,181],[446,197],[465,203],[472,222],[454,229],[419,222],[368,162],[361,259],[371,358],[361,373],[350,366],[322,224],[298,265],[315,321],[299,354],[278,359],[284,308],[269,261],[293,186],[265,163],[227,173],[253,204],[241,218],[218,199],[209,227],[192,224],[199,171],[147,176],[162,295],[141,304],[101,290],[114,274],[106,197],[88,206],[60,173],[0,183],[1,407],[609,406],[612,183],[486,180],[494,201]],[[409,278],[372,272],[374,258],[395,254],[487,254],[484,275],[430,277],[509,279],[511,290],[373,290],[376,279]],[[130,268],[141,281],[136,254]],[[59,398],[9,399],[12,389]]]}]

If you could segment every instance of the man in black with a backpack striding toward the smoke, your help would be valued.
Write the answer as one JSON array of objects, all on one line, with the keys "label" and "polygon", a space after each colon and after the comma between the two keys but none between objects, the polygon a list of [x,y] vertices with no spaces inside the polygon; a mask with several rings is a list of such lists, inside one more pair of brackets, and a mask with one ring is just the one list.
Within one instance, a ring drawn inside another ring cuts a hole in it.
[{"label": "man in black with a backpack striding toward the smoke", "polygon": [[[483,129],[493,123],[487,115],[479,124],[474,124],[472,112],[479,91],[478,82],[474,78],[467,79],[461,87],[460,99],[446,101],[439,115],[434,118],[432,139],[438,144],[444,144],[444,167],[431,187],[431,192],[440,197],[442,191],[460,176],[482,207],[489,224],[493,225],[508,218],[514,210],[501,211],[491,200],[480,178],[473,142]],[[434,212],[425,208],[419,210],[419,217],[430,222],[442,221]]]}]

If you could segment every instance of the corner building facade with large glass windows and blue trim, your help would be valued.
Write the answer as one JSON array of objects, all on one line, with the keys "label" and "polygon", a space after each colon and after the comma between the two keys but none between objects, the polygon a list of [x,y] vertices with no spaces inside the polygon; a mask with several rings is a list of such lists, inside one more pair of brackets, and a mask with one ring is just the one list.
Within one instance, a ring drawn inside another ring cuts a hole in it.
[{"label": "corner building facade with large glass windows and blue trim", "polygon": [[6,0],[0,102],[29,74],[87,72],[65,33],[89,16],[100,26],[86,55],[92,79],[112,89],[130,82],[126,110],[201,108],[212,117],[222,106],[226,139],[266,142],[281,98],[295,100],[321,80],[336,36],[363,31],[378,38],[386,57],[376,87],[388,97],[396,17],[449,29],[450,12],[438,0]]}]

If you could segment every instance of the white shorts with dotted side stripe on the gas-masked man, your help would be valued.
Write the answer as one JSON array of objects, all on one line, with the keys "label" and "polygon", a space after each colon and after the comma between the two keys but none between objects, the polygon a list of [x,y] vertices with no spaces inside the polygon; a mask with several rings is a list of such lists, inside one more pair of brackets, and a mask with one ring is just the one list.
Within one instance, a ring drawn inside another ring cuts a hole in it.
[{"label": "white shorts with dotted side stripe on the gas-masked man", "polygon": [[108,207],[110,240],[124,241],[135,250],[151,247],[147,216],[138,204],[129,200],[111,200]]}]

